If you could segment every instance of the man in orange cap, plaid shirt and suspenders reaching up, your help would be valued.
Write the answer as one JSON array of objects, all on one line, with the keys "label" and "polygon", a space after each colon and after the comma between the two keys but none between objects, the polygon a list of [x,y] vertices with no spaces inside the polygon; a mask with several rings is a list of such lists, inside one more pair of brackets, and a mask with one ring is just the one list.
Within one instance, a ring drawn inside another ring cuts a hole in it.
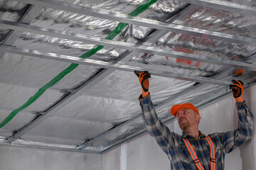
[{"label": "man in orange cap, plaid shirt and suspenders reaching up", "polygon": [[198,109],[191,103],[171,107],[171,115],[178,120],[182,135],[171,132],[156,115],[149,94],[149,72],[137,72],[142,85],[139,96],[142,106],[142,117],[149,135],[155,138],[159,147],[169,157],[171,169],[224,169],[225,154],[232,152],[252,137],[253,115],[242,98],[244,83],[233,80],[230,89],[233,91],[238,109],[238,128],[229,132],[215,132],[208,136],[198,130],[201,119]]}]

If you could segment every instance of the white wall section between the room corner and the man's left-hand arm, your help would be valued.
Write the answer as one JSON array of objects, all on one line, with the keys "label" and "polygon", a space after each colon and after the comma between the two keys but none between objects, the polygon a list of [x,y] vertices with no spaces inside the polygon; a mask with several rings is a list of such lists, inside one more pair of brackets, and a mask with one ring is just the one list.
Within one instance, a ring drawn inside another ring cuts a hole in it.
[{"label": "white wall section between the room corner and the man's left-hand arm", "polygon": [[[102,155],[102,170],[170,169],[166,154],[149,135],[143,135],[122,147],[117,147]],[[123,152],[124,156],[121,157]]]}]

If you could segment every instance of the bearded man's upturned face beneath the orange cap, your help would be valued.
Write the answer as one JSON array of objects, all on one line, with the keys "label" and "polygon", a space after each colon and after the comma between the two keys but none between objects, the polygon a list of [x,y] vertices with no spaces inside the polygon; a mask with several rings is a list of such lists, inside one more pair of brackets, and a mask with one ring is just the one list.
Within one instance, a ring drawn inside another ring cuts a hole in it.
[{"label": "bearded man's upturned face beneath the orange cap", "polygon": [[180,108],[177,111],[176,118],[181,130],[186,130],[193,125],[198,126],[200,115],[190,108]]}]

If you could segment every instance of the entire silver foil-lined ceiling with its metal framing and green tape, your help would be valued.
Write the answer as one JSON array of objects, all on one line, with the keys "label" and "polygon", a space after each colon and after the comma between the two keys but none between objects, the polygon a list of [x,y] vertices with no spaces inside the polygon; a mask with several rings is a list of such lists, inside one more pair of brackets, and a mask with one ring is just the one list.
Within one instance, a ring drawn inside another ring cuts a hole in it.
[{"label": "entire silver foil-lined ceiling with its metal framing and green tape", "polygon": [[202,108],[230,95],[231,79],[252,86],[255,6],[0,1],[0,121],[11,116],[0,144],[101,154],[139,137],[146,130],[134,70],[151,72],[164,123],[175,120],[176,103]]}]

